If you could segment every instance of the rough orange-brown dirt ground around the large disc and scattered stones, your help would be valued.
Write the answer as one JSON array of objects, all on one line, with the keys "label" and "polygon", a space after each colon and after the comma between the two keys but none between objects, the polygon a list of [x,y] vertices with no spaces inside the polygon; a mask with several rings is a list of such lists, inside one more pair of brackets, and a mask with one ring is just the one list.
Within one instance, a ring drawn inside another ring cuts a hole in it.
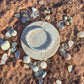
[{"label": "rough orange-brown dirt ground around the large disc and scattered stones", "polygon": [[[65,26],[63,31],[59,31],[61,44],[67,43],[69,40],[74,41],[74,45],[69,51],[72,58],[65,61],[58,51],[51,58],[51,64],[48,64],[47,76],[44,78],[43,84],[56,84],[56,79],[60,79],[62,84],[84,84],[84,38],[77,38],[77,33],[84,31],[84,0],[44,0],[42,6],[38,2],[39,0],[0,0],[0,36],[7,39],[4,36],[6,28],[13,26],[18,35],[8,40],[17,41],[18,50],[21,53],[20,59],[16,59],[12,53],[6,64],[0,65],[0,84],[39,84],[34,72],[23,67],[22,58],[26,54],[22,50],[20,42],[22,31],[33,21],[23,24],[14,17],[14,13],[19,12],[20,9],[33,6],[37,7],[40,12],[39,18],[34,21],[46,21],[44,18],[47,14],[43,12],[46,8],[51,10],[49,14],[51,19],[47,22],[55,27],[60,20],[63,20],[63,15],[73,18],[72,25]],[[4,52],[0,49],[0,57]],[[73,65],[71,73],[65,69],[66,63]]]}]

